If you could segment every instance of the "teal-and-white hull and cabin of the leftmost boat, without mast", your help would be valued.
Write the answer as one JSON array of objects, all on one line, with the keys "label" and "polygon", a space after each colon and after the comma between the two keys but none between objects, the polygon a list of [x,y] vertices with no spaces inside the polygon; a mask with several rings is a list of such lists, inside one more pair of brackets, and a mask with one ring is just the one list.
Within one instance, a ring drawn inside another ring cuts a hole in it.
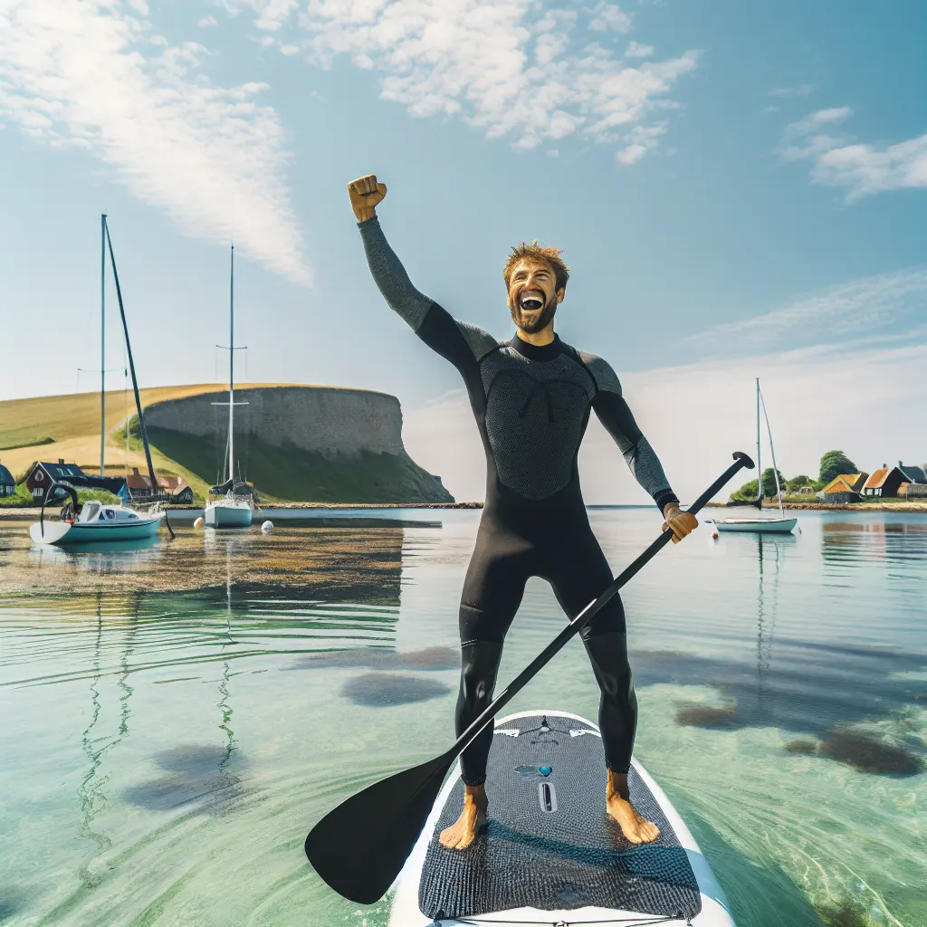
[{"label": "teal-and-white hull and cabin of the leftmost boat, without mast", "polygon": [[[77,501],[77,491],[70,483],[57,482],[70,494],[70,502],[61,509],[59,521],[45,521],[44,503],[39,520],[29,527],[29,536],[36,544],[57,544],[59,547],[89,542],[144,540],[158,533],[163,513],[143,516],[122,505],[107,502]],[[50,488],[51,489],[51,488]],[[49,491],[45,498],[54,495]]]}]

